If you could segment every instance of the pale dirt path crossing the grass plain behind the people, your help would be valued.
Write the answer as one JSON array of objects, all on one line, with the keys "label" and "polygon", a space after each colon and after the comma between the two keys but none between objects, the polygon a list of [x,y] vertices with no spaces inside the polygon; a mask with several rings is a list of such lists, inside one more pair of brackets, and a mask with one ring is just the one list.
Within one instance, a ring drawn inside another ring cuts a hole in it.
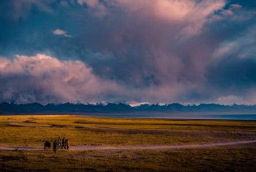
[{"label": "pale dirt path crossing the grass plain behind the people", "polygon": [[[243,140],[236,142],[225,143],[210,143],[210,144],[193,144],[193,145],[178,145],[178,146],[71,146],[71,151],[84,151],[84,150],[135,150],[135,149],[175,149],[175,148],[206,148],[206,147],[219,147],[230,146],[235,144],[249,144],[256,143],[256,140]],[[0,146],[0,150],[43,150],[43,147],[28,147],[28,146]]]}]

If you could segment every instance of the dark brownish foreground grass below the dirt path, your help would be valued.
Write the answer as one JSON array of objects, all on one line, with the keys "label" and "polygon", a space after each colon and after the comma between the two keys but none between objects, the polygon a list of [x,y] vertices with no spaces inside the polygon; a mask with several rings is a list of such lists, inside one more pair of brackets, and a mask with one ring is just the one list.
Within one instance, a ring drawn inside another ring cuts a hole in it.
[{"label": "dark brownish foreground grass below the dirt path", "polygon": [[256,148],[0,151],[0,171],[255,171]]}]

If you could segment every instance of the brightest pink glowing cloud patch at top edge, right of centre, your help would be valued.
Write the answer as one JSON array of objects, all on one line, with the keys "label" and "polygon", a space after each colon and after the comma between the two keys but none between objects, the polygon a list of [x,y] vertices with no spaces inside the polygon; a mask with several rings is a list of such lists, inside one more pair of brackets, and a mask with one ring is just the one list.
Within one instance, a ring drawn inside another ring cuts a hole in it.
[{"label": "brightest pink glowing cloud patch at top edge, right of centre", "polygon": [[[173,30],[178,37],[188,38],[200,33],[207,23],[207,17],[214,11],[222,9],[226,3],[224,0],[202,1],[195,3],[191,0],[151,0],[151,1],[117,1],[117,4],[129,15],[137,13],[135,21],[144,20],[155,25],[165,25],[169,34]],[[146,22],[145,21],[145,22]],[[156,22],[155,22],[156,21]],[[157,27],[157,26],[152,26]],[[178,32],[180,30],[180,32]],[[166,30],[166,32],[168,32]]]}]

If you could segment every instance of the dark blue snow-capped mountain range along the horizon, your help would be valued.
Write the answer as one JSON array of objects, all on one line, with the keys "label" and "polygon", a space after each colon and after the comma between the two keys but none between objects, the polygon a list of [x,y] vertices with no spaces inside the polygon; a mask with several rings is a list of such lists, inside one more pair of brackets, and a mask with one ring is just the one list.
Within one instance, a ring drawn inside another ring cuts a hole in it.
[{"label": "dark blue snow-capped mountain range along the horizon", "polygon": [[62,102],[42,105],[39,103],[1,103],[0,115],[21,114],[129,114],[129,113],[212,113],[212,114],[256,114],[256,105],[199,104],[142,104],[132,107],[124,103],[80,103]]}]

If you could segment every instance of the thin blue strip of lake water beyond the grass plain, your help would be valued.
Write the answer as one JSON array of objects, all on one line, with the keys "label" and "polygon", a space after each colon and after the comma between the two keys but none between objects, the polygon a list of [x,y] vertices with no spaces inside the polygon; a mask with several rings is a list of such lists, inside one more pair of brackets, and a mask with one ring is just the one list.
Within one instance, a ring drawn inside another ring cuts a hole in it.
[{"label": "thin blue strip of lake water beyond the grass plain", "polygon": [[105,118],[256,120],[256,114],[87,114],[83,116]]}]

